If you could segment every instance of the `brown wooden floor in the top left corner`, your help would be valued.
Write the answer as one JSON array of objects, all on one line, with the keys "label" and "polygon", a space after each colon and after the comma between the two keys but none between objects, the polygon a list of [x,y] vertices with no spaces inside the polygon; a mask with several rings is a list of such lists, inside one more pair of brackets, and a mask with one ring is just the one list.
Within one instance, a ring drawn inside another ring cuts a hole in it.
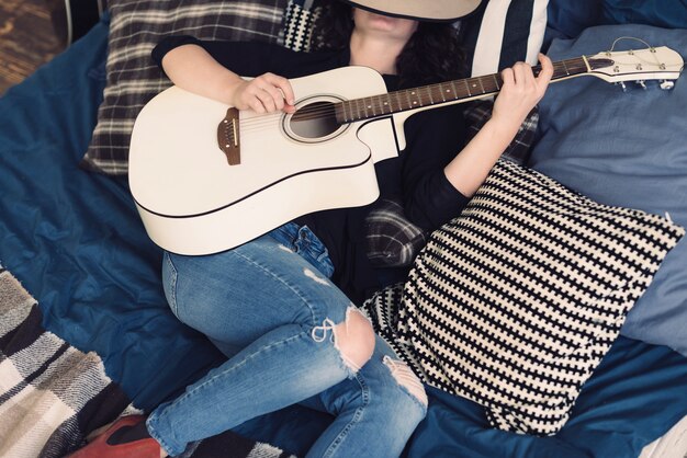
[{"label": "brown wooden floor in the top left corner", "polygon": [[45,0],[0,0],[0,95],[61,50]]}]

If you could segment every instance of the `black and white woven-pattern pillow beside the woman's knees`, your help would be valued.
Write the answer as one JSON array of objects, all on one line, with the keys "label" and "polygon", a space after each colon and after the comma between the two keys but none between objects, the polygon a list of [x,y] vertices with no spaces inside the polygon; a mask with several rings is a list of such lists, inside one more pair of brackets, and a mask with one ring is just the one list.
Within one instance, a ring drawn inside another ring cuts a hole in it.
[{"label": "black and white woven-pattern pillow beside the woman's knees", "polygon": [[496,427],[550,435],[684,233],[502,160],[407,282],[364,307],[425,381]]}]

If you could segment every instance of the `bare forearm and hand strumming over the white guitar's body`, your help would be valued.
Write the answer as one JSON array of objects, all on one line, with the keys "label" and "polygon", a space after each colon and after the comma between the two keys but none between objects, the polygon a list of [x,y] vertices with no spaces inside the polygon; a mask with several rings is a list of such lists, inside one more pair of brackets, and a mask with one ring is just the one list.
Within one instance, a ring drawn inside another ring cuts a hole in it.
[{"label": "bare forearm and hand strumming over the white guitar's body", "polygon": [[245,80],[219,65],[202,46],[188,44],[162,57],[162,69],[179,88],[226,103],[238,110],[269,113],[295,108],[293,89],[288,79],[264,73]]}]

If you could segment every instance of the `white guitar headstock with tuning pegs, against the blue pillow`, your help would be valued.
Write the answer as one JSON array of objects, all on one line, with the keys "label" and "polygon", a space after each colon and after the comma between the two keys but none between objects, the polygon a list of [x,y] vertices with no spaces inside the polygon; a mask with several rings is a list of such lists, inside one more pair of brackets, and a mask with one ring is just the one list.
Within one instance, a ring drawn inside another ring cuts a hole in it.
[{"label": "white guitar headstock with tuning pegs, against the blue pillow", "polygon": [[588,75],[620,83],[623,89],[624,81],[637,81],[644,87],[647,80],[662,80],[662,89],[672,89],[673,81],[679,78],[685,67],[683,57],[666,46],[604,51],[584,59],[589,68]]}]

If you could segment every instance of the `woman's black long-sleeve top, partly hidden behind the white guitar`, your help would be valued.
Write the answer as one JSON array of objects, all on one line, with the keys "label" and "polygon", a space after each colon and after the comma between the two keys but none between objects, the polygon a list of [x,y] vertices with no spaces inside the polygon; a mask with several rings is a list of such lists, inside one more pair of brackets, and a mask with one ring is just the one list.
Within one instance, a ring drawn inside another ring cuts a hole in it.
[{"label": "woman's black long-sleeve top, partly hidden behind the white guitar", "polygon": [[[165,38],[153,50],[161,68],[162,57],[171,49],[195,44],[215,60],[244,77],[272,72],[299,78],[346,67],[350,50],[296,53],[279,45],[247,42],[207,42],[191,36]],[[399,87],[398,78],[385,75],[387,91]],[[443,168],[462,149],[465,127],[460,105],[428,110],[405,123],[406,148],[397,158],[380,161],[375,172],[382,197],[404,203],[406,217],[430,231],[460,214],[468,203],[448,181]],[[296,219],[307,225],[325,243],[335,266],[334,283],[353,301],[380,286],[379,276],[365,254],[364,218],[370,206],[317,211]]]}]

